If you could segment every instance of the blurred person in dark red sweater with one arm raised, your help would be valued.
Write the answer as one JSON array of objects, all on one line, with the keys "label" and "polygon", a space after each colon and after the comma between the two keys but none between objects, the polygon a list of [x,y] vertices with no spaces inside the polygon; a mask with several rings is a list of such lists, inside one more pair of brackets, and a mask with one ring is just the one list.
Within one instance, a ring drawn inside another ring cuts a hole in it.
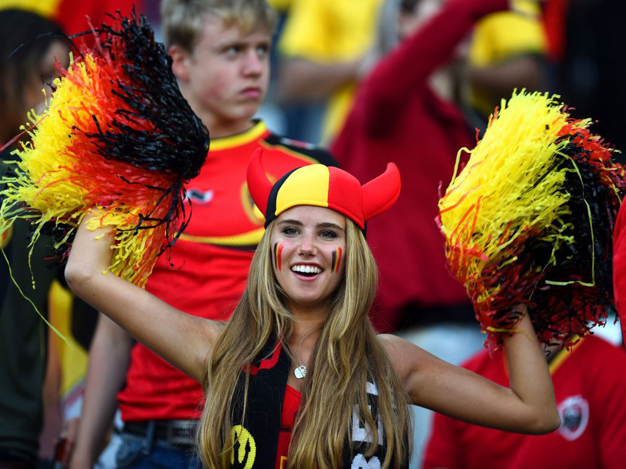
[{"label": "blurred person in dark red sweater with one arm raised", "polygon": [[[367,230],[380,271],[374,324],[382,332],[401,331],[451,363],[478,350],[483,336],[463,286],[446,269],[435,222],[439,191],[448,186],[459,148],[475,143],[473,130],[449,101],[452,74],[459,69],[449,64],[462,60],[459,44],[476,21],[506,8],[505,0],[449,0],[443,6],[438,0],[403,0],[402,43],[362,81],[332,145],[340,163],[361,181],[380,174],[389,160],[403,174],[398,201]],[[430,415],[416,408],[418,457]]]}]

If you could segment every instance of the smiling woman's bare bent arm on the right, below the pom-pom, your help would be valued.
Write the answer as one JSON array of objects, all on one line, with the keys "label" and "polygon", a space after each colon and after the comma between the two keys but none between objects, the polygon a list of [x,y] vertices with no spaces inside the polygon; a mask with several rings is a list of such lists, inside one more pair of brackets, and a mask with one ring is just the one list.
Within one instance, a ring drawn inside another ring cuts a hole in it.
[{"label": "smiling woman's bare bent arm on the right, below the pom-pom", "polygon": [[476,425],[548,433],[560,424],[545,356],[528,316],[505,338],[510,388],[450,365],[406,340],[382,336],[396,373],[415,405]]}]

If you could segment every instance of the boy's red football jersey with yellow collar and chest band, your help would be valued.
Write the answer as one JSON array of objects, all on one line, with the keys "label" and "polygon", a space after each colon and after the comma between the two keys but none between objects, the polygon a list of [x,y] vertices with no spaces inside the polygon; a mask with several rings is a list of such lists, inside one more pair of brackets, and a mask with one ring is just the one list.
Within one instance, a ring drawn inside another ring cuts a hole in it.
[{"label": "boy's red football jersey with yellow collar and chest band", "polygon": [[[250,157],[259,146],[272,180],[305,164],[336,165],[326,151],[274,135],[262,122],[244,133],[212,139],[200,174],[186,186],[191,221],[171,257],[163,255],[156,263],[146,290],[186,313],[228,319],[264,232],[264,218],[246,184]],[[199,417],[203,393],[197,381],[136,344],[118,400],[124,421],[187,420]]]}]

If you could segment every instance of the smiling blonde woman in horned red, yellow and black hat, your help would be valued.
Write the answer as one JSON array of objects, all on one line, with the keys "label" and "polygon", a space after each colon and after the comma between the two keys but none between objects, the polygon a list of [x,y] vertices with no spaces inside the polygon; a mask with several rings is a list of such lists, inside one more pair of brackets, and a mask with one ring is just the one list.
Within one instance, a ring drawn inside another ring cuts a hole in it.
[{"label": "smiling blonde woman in horned red, yellow and black hat", "polygon": [[377,269],[364,230],[398,197],[396,166],[364,186],[321,164],[272,184],[257,151],[248,186],[266,231],[225,324],[103,275],[111,228],[81,226],[66,269],[78,295],[203,384],[198,447],[207,469],[405,467],[409,403],[520,433],[558,427],[526,316],[505,340],[510,388],[374,332],[367,312]]}]

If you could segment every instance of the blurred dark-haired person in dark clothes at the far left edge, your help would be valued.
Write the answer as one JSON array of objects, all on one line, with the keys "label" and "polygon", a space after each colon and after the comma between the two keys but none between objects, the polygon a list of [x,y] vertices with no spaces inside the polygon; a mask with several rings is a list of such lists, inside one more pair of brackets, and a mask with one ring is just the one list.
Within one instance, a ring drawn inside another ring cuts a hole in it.
[{"label": "blurred dark-haired person in dark clothes at the far left edge", "polygon": [[[40,34],[53,34],[37,38]],[[55,59],[68,64],[68,46],[59,39],[58,24],[18,9],[0,11],[0,146],[1,160],[11,159],[17,143],[9,143],[26,123],[26,113],[46,106],[49,84],[56,76]],[[20,47],[21,46],[21,47]],[[44,85],[45,83],[45,85]],[[19,140],[19,138],[18,138]],[[5,166],[2,164],[2,170]],[[38,466],[43,418],[42,388],[46,366],[46,325],[19,292],[13,280],[46,313],[48,287],[54,270],[46,266],[51,241],[40,239],[29,266],[28,223],[16,221],[1,236],[9,264],[0,264],[0,467]],[[9,265],[11,270],[9,270]],[[31,279],[31,271],[33,278]],[[36,288],[31,287],[32,280]]]}]

